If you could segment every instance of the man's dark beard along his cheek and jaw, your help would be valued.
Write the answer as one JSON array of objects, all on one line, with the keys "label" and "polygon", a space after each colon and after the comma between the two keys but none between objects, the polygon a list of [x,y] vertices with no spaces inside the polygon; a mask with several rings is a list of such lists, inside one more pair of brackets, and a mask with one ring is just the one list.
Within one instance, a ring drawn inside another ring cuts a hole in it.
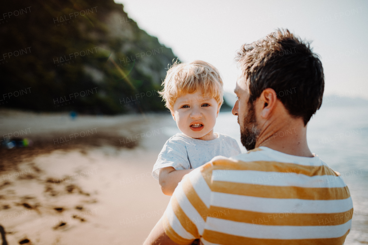
[{"label": "man's dark beard along his cheek and jaw", "polygon": [[[240,125],[239,116],[238,123]],[[244,116],[243,125],[240,125],[240,141],[247,150],[253,150],[255,148],[255,143],[259,135],[257,125],[254,105],[249,103],[248,113]]]}]

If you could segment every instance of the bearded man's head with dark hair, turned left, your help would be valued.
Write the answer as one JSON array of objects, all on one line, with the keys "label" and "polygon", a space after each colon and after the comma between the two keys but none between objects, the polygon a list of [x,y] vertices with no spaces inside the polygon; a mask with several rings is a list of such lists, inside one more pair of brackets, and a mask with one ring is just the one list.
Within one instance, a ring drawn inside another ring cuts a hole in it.
[{"label": "bearded man's head with dark hair, turned left", "polygon": [[236,60],[241,73],[233,114],[239,116],[241,141],[248,150],[254,149],[262,127],[272,123],[267,121],[272,113],[285,113],[287,120],[302,120],[306,126],[321,107],[322,63],[309,43],[287,29],[243,45]]}]

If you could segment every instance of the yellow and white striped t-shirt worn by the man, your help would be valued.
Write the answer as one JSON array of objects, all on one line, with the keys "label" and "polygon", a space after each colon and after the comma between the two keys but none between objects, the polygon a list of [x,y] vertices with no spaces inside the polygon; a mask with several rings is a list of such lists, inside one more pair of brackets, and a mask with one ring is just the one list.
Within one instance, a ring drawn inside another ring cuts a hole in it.
[{"label": "yellow and white striped t-shirt worn by the man", "polygon": [[353,202],[318,156],[260,147],[185,175],[163,216],[178,244],[343,244]]}]

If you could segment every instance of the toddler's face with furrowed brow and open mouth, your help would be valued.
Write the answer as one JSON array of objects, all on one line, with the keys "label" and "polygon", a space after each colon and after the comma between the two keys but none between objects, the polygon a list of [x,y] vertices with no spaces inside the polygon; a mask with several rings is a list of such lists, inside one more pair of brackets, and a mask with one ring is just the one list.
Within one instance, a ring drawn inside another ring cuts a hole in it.
[{"label": "toddler's face with furrowed brow and open mouth", "polygon": [[212,140],[216,117],[219,115],[221,105],[202,91],[186,93],[177,97],[171,115],[178,128],[184,134],[202,140]]}]

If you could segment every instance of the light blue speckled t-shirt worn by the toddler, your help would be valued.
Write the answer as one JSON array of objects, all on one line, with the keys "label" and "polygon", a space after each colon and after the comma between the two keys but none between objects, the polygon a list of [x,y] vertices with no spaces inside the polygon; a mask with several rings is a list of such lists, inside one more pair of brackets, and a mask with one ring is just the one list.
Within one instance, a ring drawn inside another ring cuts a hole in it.
[{"label": "light blue speckled t-shirt worn by the toddler", "polygon": [[198,168],[215,156],[232,157],[241,153],[238,143],[228,135],[215,133],[212,141],[191,138],[178,133],[168,139],[153,166],[152,176],[158,180],[160,168],[176,170]]}]

